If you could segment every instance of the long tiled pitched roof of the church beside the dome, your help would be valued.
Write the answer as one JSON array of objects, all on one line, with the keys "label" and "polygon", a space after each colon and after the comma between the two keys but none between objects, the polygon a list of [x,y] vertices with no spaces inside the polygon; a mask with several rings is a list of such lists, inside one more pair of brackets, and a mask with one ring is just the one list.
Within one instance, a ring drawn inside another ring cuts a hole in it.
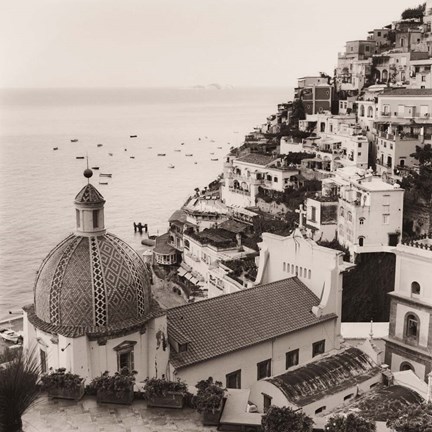
[{"label": "long tiled pitched roof of the church beside the dome", "polygon": [[298,278],[259,285],[167,311],[168,337],[190,340],[185,352],[170,353],[182,368],[336,318],[310,311],[319,299]]}]

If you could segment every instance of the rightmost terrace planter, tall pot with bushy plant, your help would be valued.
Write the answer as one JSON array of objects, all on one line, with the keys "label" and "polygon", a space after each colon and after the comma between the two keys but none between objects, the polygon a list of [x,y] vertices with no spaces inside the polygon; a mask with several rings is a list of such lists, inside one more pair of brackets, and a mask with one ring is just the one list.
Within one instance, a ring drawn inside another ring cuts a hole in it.
[{"label": "rightmost terrace planter, tall pot with bushy plant", "polygon": [[198,392],[193,404],[202,413],[204,426],[218,426],[225,404],[225,391],[220,381],[213,381],[212,377],[201,380],[196,385]]}]

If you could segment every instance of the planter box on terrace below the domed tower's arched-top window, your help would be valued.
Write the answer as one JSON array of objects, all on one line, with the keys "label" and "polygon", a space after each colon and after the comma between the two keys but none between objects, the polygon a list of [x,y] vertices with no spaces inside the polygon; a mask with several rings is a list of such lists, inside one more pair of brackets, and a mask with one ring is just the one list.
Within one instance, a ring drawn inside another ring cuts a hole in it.
[{"label": "planter box on terrace below the domed tower's arched-top window", "polygon": [[90,383],[90,391],[96,392],[99,403],[116,403],[130,405],[134,397],[136,371],[124,367],[120,372],[110,375],[105,371]]}]

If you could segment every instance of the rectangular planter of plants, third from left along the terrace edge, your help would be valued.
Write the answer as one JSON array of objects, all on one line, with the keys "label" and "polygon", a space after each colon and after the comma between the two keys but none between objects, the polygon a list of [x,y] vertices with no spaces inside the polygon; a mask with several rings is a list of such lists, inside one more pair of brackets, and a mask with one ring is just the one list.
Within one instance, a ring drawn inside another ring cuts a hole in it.
[{"label": "rectangular planter of plants, third from left along the terrace edge", "polygon": [[183,408],[187,384],[177,379],[169,381],[162,378],[147,378],[144,381],[147,406],[158,408]]}]

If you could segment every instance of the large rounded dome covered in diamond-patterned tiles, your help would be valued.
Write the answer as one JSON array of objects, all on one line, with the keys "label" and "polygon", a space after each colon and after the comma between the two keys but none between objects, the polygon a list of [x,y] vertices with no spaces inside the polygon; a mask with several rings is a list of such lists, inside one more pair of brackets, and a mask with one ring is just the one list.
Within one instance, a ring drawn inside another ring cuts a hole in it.
[{"label": "large rounded dome covered in diamond-patterned tiles", "polygon": [[[92,200],[100,200],[93,192]],[[72,234],[57,245],[38,271],[34,294],[37,317],[57,326],[121,327],[145,318],[151,308],[146,265],[109,233]]]}]

